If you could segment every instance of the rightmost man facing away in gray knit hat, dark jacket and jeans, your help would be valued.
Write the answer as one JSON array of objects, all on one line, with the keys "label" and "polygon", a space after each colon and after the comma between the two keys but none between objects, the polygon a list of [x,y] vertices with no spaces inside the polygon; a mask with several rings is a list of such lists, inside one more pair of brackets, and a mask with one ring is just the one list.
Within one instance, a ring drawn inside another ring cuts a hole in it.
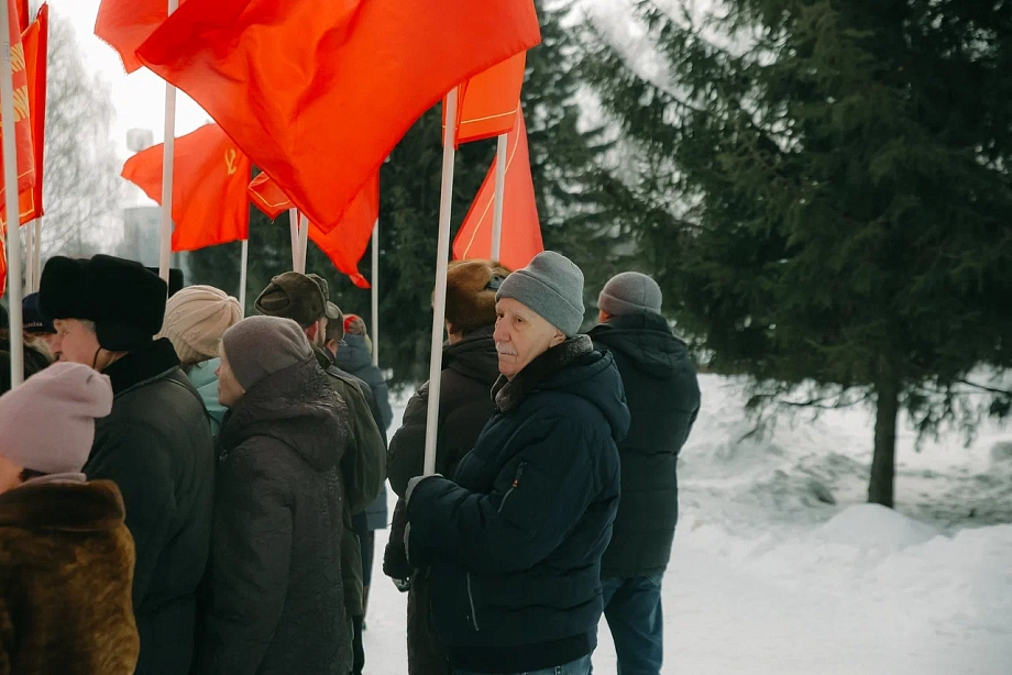
[{"label": "rightmost man facing away in gray knit hat, dark jacket and jeans", "polygon": [[590,332],[614,355],[632,416],[618,444],[622,504],[602,586],[618,670],[642,675],[660,673],[663,661],[661,578],[678,521],[678,458],[700,411],[695,368],[661,301],[657,281],[624,272],[601,291],[601,323]]}]

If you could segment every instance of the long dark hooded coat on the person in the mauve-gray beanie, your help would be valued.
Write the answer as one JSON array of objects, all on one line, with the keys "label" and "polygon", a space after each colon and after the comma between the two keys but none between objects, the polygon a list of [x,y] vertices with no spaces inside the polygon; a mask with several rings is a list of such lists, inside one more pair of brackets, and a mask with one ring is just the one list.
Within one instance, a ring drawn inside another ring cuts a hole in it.
[{"label": "long dark hooded coat on the person in the mauve-gray beanie", "polygon": [[201,674],[348,675],[346,413],[309,361],[268,376],[226,416]]}]

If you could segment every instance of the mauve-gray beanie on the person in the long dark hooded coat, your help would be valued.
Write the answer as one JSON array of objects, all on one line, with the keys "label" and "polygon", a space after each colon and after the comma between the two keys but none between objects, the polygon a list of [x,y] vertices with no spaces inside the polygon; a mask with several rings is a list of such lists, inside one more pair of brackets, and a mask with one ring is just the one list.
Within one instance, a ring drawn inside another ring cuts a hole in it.
[{"label": "mauve-gray beanie on the person in the long dark hooded coat", "polygon": [[299,324],[280,317],[243,319],[224,332],[221,347],[246,391],[279,370],[315,358]]}]

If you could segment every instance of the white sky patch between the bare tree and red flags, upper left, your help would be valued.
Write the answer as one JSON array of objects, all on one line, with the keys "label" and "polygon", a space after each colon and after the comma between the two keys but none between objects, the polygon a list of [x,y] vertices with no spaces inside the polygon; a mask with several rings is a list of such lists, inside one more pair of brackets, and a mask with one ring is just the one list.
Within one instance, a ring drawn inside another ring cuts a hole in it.
[{"label": "white sky patch between the bare tree and red flags, upper left", "polygon": [[[150,129],[155,143],[161,143],[165,124],[165,82],[142,68],[127,75],[116,49],[95,36],[95,16],[99,0],[48,0],[50,12],[68,18],[77,31],[77,41],[87,59],[88,69],[98,73],[112,90],[116,107],[113,141],[117,153],[124,159],[127,131]],[[176,136],[189,133],[209,121],[208,115],[185,95],[177,93]]]}]

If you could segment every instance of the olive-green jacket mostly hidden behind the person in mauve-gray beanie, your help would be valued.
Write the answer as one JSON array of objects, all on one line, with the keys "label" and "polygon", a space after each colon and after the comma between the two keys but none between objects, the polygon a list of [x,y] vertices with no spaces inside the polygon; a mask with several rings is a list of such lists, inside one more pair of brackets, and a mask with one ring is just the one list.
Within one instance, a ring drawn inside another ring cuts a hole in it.
[{"label": "olive-green jacket mostly hidden behind the person in mauve-gray beanie", "polygon": [[365,395],[351,375],[336,368],[320,351],[316,352],[320,367],[327,373],[334,391],[348,406],[351,435],[341,457],[344,483],[344,535],[341,538],[341,575],[344,583],[344,606],[352,617],[365,613],[362,588],[362,554],[359,539],[352,530],[351,517],[372,504],[386,480],[386,447],[380,428],[373,420]]}]

